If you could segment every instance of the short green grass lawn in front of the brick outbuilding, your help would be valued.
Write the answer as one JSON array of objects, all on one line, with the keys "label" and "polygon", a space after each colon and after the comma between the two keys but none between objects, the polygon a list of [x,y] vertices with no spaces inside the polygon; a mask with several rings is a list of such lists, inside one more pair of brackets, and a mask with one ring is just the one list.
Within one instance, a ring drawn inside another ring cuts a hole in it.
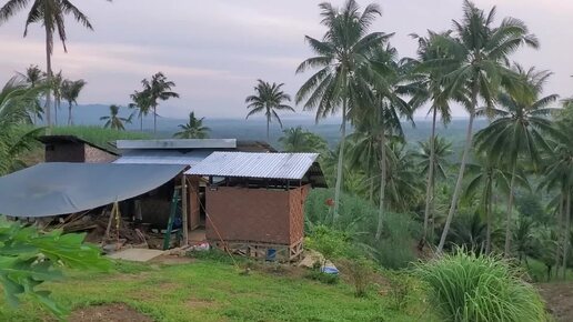
[{"label": "short green grass lawn in front of the brick outbuilding", "polygon": [[[115,272],[73,273],[46,288],[71,310],[123,302],[157,321],[429,321],[431,315],[421,292],[410,294],[409,304],[398,310],[375,286],[359,299],[343,281],[330,285],[258,270],[239,272],[208,259],[169,266],[119,263]],[[18,309],[0,302],[0,321],[48,315],[31,302]]]}]

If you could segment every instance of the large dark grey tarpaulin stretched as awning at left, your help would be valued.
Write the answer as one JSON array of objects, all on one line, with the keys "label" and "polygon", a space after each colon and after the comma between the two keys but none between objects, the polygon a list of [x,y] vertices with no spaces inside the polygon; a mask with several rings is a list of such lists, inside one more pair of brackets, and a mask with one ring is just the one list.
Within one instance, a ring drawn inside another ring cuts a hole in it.
[{"label": "large dark grey tarpaulin stretched as awning at left", "polygon": [[48,217],[74,213],[149,192],[187,165],[40,163],[0,178],[0,213]]}]

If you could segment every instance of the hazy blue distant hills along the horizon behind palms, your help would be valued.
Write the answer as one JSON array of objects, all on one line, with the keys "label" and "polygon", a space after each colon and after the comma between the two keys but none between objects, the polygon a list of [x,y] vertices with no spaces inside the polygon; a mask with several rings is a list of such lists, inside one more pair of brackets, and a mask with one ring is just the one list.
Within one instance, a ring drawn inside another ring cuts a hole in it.
[{"label": "hazy blue distant hills along the horizon behind palms", "polygon": [[[122,117],[128,117],[131,110],[123,109],[121,111]],[[80,104],[74,107],[73,118],[77,125],[102,125],[100,117],[109,113],[109,105],[104,104]],[[59,123],[63,124],[67,121],[67,110],[63,109],[59,113]],[[158,118],[158,137],[169,138],[178,131],[178,125],[187,123],[185,119],[172,119],[172,118]],[[340,139],[340,124],[336,118],[329,118],[319,124],[314,123],[314,119],[301,118],[301,117],[285,117],[283,120],[284,129],[301,125],[309,131],[312,131],[323,137],[331,147],[334,147]],[[212,138],[237,138],[240,140],[265,140],[267,138],[267,123],[262,118],[252,118],[249,120],[244,119],[211,119],[205,118],[204,124],[211,128]],[[438,127],[438,133],[446,137],[453,141],[456,147],[463,143],[465,138],[465,127],[468,124],[466,119],[454,119],[448,128],[442,124]],[[485,127],[485,120],[476,120],[475,130]],[[406,140],[410,143],[416,141],[426,140],[430,130],[431,122],[428,120],[416,120],[415,127],[412,128],[410,124],[403,124]],[[139,119],[134,118],[133,124],[128,125],[128,130],[138,131],[140,128]],[[143,120],[143,130],[151,132],[153,129],[153,118],[149,115]],[[349,127],[349,132],[352,131]],[[271,123],[270,141],[272,144],[278,145],[279,138],[282,137],[282,131],[278,123]]]}]

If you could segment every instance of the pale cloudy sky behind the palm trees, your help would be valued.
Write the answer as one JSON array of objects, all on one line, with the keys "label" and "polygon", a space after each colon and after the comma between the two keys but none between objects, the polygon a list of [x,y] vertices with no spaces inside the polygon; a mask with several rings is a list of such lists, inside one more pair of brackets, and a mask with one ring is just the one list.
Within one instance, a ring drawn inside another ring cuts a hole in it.
[{"label": "pale cloudy sky behind the palm trees", "polygon": [[[0,6],[6,3],[0,0]],[[88,31],[67,20],[68,53],[54,44],[52,66],[66,78],[88,85],[78,102],[128,104],[140,81],[162,71],[177,83],[180,99],[163,102],[159,113],[185,118],[191,111],[207,118],[242,118],[244,98],[257,79],[283,82],[294,95],[311,73],[295,69],[312,56],[304,36],[322,37],[314,0],[104,0],[73,3],[91,20]],[[343,1],[331,1],[341,6]],[[364,7],[372,1],[359,0]],[[442,31],[462,14],[461,0],[381,0],[383,14],[372,31],[395,32],[391,43],[402,57],[413,57],[410,33]],[[571,0],[475,0],[497,7],[497,22],[511,16],[523,20],[541,41],[541,49],[521,49],[512,60],[554,72],[545,93],[573,95],[573,28]],[[44,33],[39,26],[22,38],[27,11],[0,26],[0,82],[30,64],[46,67]],[[295,107],[296,115],[302,107]],[[419,118],[426,111],[418,112]],[[454,107],[455,117],[464,117]],[[310,117],[310,115],[309,115]]]}]

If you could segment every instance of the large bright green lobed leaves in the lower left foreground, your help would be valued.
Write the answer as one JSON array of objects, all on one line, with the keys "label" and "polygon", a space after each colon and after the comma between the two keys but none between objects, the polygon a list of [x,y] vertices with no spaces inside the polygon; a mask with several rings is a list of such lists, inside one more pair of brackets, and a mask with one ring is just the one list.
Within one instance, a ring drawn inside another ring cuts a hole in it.
[{"label": "large bright green lobed leaves in the lower left foreground", "polygon": [[36,288],[47,281],[63,278],[62,268],[108,270],[109,262],[96,246],[83,244],[83,234],[62,234],[54,230],[39,232],[33,227],[0,221],[0,283],[11,305],[27,294],[54,314],[62,316],[66,309],[53,302],[46,290]]}]

